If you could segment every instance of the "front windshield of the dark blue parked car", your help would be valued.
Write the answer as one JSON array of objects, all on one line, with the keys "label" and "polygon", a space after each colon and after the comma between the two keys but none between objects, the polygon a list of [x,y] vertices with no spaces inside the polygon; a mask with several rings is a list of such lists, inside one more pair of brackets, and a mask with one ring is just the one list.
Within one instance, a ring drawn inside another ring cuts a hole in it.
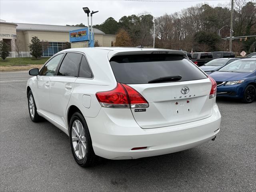
[{"label": "front windshield of the dark blue parked car", "polygon": [[236,60],[224,67],[222,67],[219,71],[222,72],[240,72],[240,73],[250,73],[256,70],[256,60]]}]

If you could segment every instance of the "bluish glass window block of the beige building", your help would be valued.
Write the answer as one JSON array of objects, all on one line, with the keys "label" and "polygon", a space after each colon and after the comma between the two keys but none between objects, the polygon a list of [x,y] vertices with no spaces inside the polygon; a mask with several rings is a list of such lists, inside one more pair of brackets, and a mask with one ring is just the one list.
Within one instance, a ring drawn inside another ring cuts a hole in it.
[{"label": "bluish glass window block of the beige building", "polygon": [[65,48],[65,42],[42,42],[43,57],[51,57]]}]

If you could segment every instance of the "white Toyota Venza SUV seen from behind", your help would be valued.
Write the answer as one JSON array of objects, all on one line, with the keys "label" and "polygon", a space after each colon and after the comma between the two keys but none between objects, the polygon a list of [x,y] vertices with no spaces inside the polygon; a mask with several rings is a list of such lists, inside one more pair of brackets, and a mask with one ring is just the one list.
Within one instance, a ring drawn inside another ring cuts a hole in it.
[{"label": "white Toyota Venza SUV seen from behind", "polygon": [[80,166],[186,150],[220,130],[216,82],[183,51],[72,48],[29,74],[31,120],[65,132]]}]

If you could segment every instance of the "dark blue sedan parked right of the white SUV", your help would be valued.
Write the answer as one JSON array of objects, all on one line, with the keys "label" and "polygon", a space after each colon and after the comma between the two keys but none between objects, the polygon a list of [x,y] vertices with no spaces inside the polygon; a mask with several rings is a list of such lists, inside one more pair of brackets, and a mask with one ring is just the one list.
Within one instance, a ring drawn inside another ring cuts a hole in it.
[{"label": "dark blue sedan parked right of the white SUV", "polygon": [[217,83],[217,96],[239,98],[251,103],[256,98],[256,60],[236,60],[210,76]]}]

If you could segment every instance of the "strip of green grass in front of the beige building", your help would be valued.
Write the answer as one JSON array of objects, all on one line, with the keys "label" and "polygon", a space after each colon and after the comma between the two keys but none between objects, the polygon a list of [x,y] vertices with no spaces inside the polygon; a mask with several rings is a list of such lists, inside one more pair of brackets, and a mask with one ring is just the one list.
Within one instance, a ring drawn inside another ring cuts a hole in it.
[{"label": "strip of green grass in front of the beige building", "polygon": [[33,58],[33,57],[20,57],[20,58],[0,58],[0,66],[27,66],[27,65],[42,65],[50,57]]}]

